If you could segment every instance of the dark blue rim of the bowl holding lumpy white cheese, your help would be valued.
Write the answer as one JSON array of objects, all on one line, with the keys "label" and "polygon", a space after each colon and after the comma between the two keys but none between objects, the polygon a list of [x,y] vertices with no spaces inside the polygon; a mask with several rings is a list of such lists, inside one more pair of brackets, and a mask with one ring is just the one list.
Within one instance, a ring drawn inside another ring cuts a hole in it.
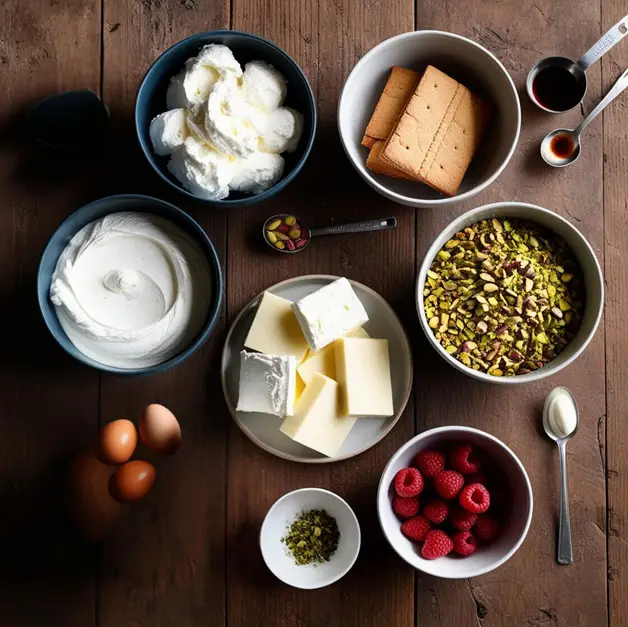
[{"label": "dark blue rim of the bowl holding lumpy white cheese", "polygon": [[[208,35],[212,35],[212,36],[241,35],[243,37],[247,37],[249,39],[259,41],[269,46],[270,48],[273,48],[276,52],[282,55],[284,59],[290,65],[292,65],[293,68],[303,77],[303,80],[305,81],[305,85],[307,87],[307,95],[310,101],[310,105],[312,107],[312,129],[310,131],[310,136],[308,137],[307,145],[305,146],[303,155],[301,156],[299,161],[296,163],[292,171],[287,176],[285,176],[280,181],[275,183],[275,185],[273,185],[270,189],[267,189],[261,192],[260,194],[251,194],[250,196],[246,196],[244,198],[237,198],[233,200],[229,200],[229,198],[225,198],[223,200],[208,200],[207,198],[200,198],[199,196],[195,196],[191,192],[188,192],[188,190],[186,190],[179,183],[175,183],[174,181],[172,181],[155,165],[154,160],[153,160],[153,155],[152,155],[152,148],[151,146],[147,144],[147,142],[143,139],[142,134],[140,133],[140,128],[139,128],[140,125],[138,122],[138,102],[139,102],[140,96],[142,95],[143,90],[145,89],[146,81],[150,73],[166,55],[171,54],[173,51],[178,50],[179,48],[183,48],[189,45],[191,42],[198,41],[200,45],[200,42],[202,42],[202,40]],[[153,61],[151,66],[148,68],[148,70],[146,70],[146,73],[144,74],[144,78],[142,78],[140,86],[137,90],[137,95],[135,97],[134,122],[135,122],[135,134],[140,144],[140,148],[142,149],[142,152],[144,153],[144,156],[146,157],[146,160],[150,164],[151,168],[157,173],[157,175],[163,181],[165,181],[170,187],[172,187],[173,189],[176,189],[177,191],[184,194],[188,198],[191,198],[203,204],[213,205],[216,207],[241,207],[244,205],[253,205],[258,202],[262,202],[263,200],[270,198],[274,196],[275,194],[278,194],[279,192],[283,191],[297,177],[297,175],[303,169],[305,162],[308,160],[310,153],[312,152],[312,147],[314,145],[314,140],[316,138],[318,114],[316,111],[316,99],[314,98],[314,93],[312,92],[312,86],[310,85],[310,81],[308,81],[307,76],[305,75],[305,72],[301,69],[301,66],[285,50],[283,50],[283,48],[280,48],[277,44],[273,43],[272,41],[269,41],[268,39],[264,39],[263,37],[259,37],[258,35],[253,35],[252,33],[245,33],[239,30],[224,30],[223,29],[223,30],[204,31],[202,33],[196,33],[195,35],[190,35],[189,37],[186,37],[185,39],[182,39],[181,41],[177,42],[173,46],[170,46],[170,48],[168,48],[167,50],[164,50]]]}]

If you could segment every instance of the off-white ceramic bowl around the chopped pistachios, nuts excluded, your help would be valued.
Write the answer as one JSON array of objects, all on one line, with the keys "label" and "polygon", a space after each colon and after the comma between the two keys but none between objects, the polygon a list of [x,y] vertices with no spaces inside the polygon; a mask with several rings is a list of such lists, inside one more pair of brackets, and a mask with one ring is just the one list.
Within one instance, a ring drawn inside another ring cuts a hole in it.
[{"label": "off-white ceramic bowl around the chopped pistachios, nuts excluded", "polygon": [[[432,265],[432,261],[438,251],[445,245],[447,240],[450,240],[455,233],[461,231],[465,227],[474,224],[480,220],[493,217],[508,217],[508,218],[521,218],[524,220],[530,220],[531,222],[537,222],[545,228],[553,231],[571,247],[571,250],[575,254],[582,272],[584,274],[584,288],[585,288],[585,304],[584,304],[584,317],[580,330],[576,334],[573,340],[565,347],[565,349],[548,364],[534,370],[528,374],[517,375],[514,377],[495,377],[488,375],[484,372],[478,372],[472,368],[468,368],[463,363],[458,361],[455,357],[452,357],[447,351],[440,345],[434,332],[429,328],[427,319],[425,317],[425,307],[423,304],[423,288],[425,286],[425,279],[427,278],[427,271]],[[551,377],[559,370],[562,370],[568,366],[572,361],[578,358],[578,356],[587,347],[602,318],[602,310],[604,309],[604,277],[602,276],[602,269],[598,263],[597,257],[593,252],[593,248],[589,242],[585,239],[584,235],[573,226],[570,222],[561,218],[557,213],[538,207],[537,205],[528,205],[521,202],[503,202],[493,203],[491,205],[484,205],[477,209],[471,209],[461,215],[457,220],[451,222],[440,235],[434,240],[430,246],[421,268],[419,269],[419,276],[417,278],[416,286],[416,301],[417,310],[419,314],[419,321],[421,328],[425,332],[428,340],[432,346],[436,349],[438,354],[449,362],[454,368],[457,368],[461,372],[475,378],[480,381],[488,383],[497,383],[504,385],[516,385],[518,383],[530,383],[531,381],[540,381],[546,377]]]}]

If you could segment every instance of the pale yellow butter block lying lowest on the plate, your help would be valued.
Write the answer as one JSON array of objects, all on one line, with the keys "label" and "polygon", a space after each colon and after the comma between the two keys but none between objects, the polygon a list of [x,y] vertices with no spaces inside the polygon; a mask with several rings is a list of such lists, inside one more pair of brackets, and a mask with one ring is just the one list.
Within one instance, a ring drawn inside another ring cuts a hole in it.
[{"label": "pale yellow butter block lying lowest on the plate", "polygon": [[339,386],[315,373],[298,400],[294,415],[281,424],[280,431],[323,455],[334,457],[356,422],[339,412]]}]

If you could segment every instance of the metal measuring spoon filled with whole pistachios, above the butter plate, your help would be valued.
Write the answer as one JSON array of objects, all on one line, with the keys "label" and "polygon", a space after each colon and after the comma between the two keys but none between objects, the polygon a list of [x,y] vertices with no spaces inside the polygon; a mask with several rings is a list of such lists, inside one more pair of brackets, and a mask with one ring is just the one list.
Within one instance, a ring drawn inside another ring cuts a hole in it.
[{"label": "metal measuring spoon filled with whole pistachios, above the butter plate", "polygon": [[274,251],[280,253],[298,253],[305,250],[313,237],[319,235],[340,235],[342,233],[367,233],[386,231],[397,226],[397,218],[380,218],[349,224],[333,224],[311,229],[301,218],[279,213],[264,222],[262,235],[264,241]]}]

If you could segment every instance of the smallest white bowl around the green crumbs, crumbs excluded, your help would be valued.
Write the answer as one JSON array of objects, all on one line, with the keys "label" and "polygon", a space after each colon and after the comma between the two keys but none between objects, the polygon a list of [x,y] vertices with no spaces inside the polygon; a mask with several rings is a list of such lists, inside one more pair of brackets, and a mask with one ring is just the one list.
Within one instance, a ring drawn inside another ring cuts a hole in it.
[{"label": "smallest white bowl around the green crumbs, crumbs excluded", "polygon": [[[290,524],[303,511],[324,509],[338,523],[338,550],[329,562],[297,566],[281,542]],[[260,532],[266,566],[281,581],[295,588],[323,588],[344,577],[360,552],[360,525],[349,504],[337,494],[320,488],[302,488],[282,496],[268,510]]]}]

